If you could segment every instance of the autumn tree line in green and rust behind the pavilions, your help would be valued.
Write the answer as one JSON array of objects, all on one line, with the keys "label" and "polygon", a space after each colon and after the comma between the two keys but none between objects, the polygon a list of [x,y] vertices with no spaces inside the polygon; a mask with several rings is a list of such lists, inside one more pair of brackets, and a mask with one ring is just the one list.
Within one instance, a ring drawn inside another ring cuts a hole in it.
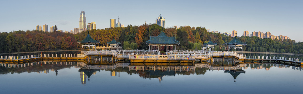
[{"label": "autumn tree line in green and rust behind the pavilions", "polygon": [[[228,45],[225,42],[231,41],[233,37],[226,36],[221,33],[210,33],[205,27],[180,27],[162,28],[157,24],[142,24],[140,26],[128,25],[127,27],[105,28],[89,30],[90,36],[93,39],[99,40],[99,46],[107,45],[107,42],[113,38],[117,42],[124,44],[132,44],[132,49],[148,49],[145,41],[149,40],[150,36],[158,36],[163,30],[167,36],[175,36],[180,42],[177,46],[178,50],[201,50],[203,43],[217,43],[215,51],[226,51]],[[22,52],[22,51],[42,51],[52,49],[80,49],[81,45],[77,40],[83,40],[87,35],[87,31],[82,31],[78,34],[54,32],[48,33],[43,31],[13,31],[10,33],[0,33],[0,51],[3,52]],[[295,42],[291,39],[261,39],[256,36],[241,36],[241,42],[246,42],[243,46],[243,51],[252,52],[285,52],[303,54],[303,42]],[[131,48],[131,47],[128,47]],[[239,49],[237,49],[239,50]]]}]

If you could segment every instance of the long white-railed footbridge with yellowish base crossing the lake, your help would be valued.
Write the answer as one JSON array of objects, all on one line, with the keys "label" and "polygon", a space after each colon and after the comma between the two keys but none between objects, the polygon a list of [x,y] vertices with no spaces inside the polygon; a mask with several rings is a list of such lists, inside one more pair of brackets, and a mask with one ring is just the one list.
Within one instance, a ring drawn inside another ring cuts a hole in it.
[{"label": "long white-railed footbridge with yellowish base crossing the lake", "polygon": [[[240,60],[240,61],[275,61],[275,62],[289,62],[294,63],[296,65],[303,64],[299,59],[294,58],[281,58],[281,57],[248,57],[235,52],[205,52],[205,51],[178,51],[178,52],[167,52],[167,55],[160,55],[159,52],[147,52],[141,50],[111,50],[111,51],[88,51],[82,54],[74,54],[74,55],[28,55],[28,56],[6,56],[1,57],[0,61],[3,62],[21,62],[27,60],[53,60],[53,59],[86,59],[91,58],[92,56],[97,57],[112,57],[114,59],[128,59],[131,62],[189,62],[194,63],[195,60],[211,60],[214,61],[214,58],[232,58],[232,61]],[[302,66],[303,67],[303,66]]]}]

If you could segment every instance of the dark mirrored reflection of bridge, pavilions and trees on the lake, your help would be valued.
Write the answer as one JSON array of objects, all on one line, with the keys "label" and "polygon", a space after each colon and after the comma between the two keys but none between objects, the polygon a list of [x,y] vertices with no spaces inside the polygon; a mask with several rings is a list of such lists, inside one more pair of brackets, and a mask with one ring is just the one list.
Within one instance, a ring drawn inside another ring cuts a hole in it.
[{"label": "dark mirrored reflection of bridge, pavilions and trees on the lake", "polygon": [[291,68],[294,70],[301,70],[301,67],[284,65],[284,64],[261,64],[252,63],[245,64],[243,62],[237,62],[235,65],[231,65],[229,62],[214,62],[214,64],[206,63],[195,63],[194,65],[188,66],[161,66],[161,65],[130,65],[130,63],[88,63],[88,62],[56,62],[56,61],[40,61],[32,62],[26,64],[4,64],[0,63],[0,74],[20,74],[20,73],[45,73],[51,75],[58,75],[58,71],[74,67],[78,69],[80,74],[81,83],[86,84],[92,74],[97,74],[102,70],[103,72],[108,71],[108,75],[120,77],[120,72],[125,72],[129,75],[138,74],[139,77],[144,79],[159,79],[159,82],[163,80],[164,77],[170,77],[175,75],[205,75],[207,71],[223,70],[224,73],[229,73],[234,78],[236,78],[242,73],[246,73],[245,69],[265,69],[270,70],[271,67],[278,68]]}]

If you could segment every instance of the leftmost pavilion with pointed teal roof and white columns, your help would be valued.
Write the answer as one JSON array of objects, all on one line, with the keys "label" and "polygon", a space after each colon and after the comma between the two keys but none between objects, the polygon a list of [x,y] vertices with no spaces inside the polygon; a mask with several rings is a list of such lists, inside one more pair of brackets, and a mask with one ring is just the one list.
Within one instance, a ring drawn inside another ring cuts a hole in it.
[{"label": "leftmost pavilion with pointed teal roof and white columns", "polygon": [[[83,47],[87,46],[88,47],[88,51],[90,50],[91,46],[95,46],[95,50],[96,50],[96,45],[97,43],[100,43],[99,41],[94,40],[90,35],[89,35],[89,31],[87,31],[87,35],[86,37],[82,40],[82,41],[78,41],[79,44],[81,44],[81,51],[83,49]],[[83,50],[84,51],[84,50]]]}]

